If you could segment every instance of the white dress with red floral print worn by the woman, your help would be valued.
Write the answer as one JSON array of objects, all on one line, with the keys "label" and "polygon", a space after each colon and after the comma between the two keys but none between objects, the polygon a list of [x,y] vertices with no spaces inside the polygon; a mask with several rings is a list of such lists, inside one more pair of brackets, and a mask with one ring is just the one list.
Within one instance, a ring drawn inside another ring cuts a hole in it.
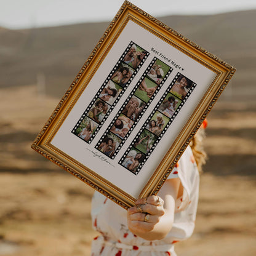
[{"label": "white dress with red floral print worn by the woman", "polygon": [[188,147],[169,178],[180,178],[183,195],[175,202],[174,225],[166,238],[146,241],[127,228],[127,211],[102,194],[92,199],[92,225],[100,236],[92,241],[91,256],[175,256],[174,244],[191,236],[198,206],[199,174]]}]

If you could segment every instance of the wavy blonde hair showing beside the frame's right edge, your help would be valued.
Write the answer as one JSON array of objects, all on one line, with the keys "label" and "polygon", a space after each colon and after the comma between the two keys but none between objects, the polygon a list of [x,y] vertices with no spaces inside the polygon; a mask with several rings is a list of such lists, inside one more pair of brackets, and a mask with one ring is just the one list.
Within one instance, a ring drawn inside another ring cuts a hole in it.
[{"label": "wavy blonde hair showing beside the frame's right edge", "polygon": [[206,163],[207,154],[203,148],[203,140],[206,137],[204,129],[199,128],[198,132],[194,135],[193,139],[190,142],[190,147],[196,160],[199,172],[202,172],[202,166]]}]

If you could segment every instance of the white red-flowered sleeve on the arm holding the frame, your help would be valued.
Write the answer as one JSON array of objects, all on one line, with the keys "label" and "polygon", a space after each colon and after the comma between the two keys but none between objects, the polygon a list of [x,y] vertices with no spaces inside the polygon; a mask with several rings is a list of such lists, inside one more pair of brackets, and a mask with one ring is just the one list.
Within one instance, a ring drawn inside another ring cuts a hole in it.
[{"label": "white red-flowered sleeve on the arm holding the frame", "polygon": [[198,194],[199,173],[190,146],[186,148],[168,179],[180,178],[183,194],[175,201],[176,210],[184,210],[191,203],[194,194]]}]

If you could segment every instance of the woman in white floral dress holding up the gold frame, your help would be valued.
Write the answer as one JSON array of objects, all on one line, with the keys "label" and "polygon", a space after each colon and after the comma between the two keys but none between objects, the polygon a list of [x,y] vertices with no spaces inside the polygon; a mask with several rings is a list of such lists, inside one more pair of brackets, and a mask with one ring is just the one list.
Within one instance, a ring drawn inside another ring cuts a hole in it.
[{"label": "woman in white floral dress holding up the gold frame", "polygon": [[199,130],[157,196],[138,199],[122,209],[102,194],[92,200],[92,221],[100,236],[91,256],[176,256],[174,244],[194,230],[199,172],[206,159]]}]

